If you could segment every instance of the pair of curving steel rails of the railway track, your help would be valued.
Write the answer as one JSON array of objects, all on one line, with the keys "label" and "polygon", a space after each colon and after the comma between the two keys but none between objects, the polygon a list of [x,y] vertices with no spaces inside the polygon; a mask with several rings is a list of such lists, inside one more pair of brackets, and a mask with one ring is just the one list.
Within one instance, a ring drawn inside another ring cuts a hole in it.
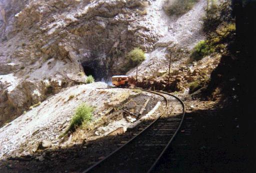
[{"label": "pair of curving steel rails of the railway track", "polygon": [[[97,89],[116,89],[116,88],[97,88]],[[175,99],[177,99],[183,108],[183,112],[182,112],[182,118],[180,120],[180,123],[178,125],[178,128],[176,129],[175,133],[173,134],[173,136],[171,137],[171,139],[169,140],[169,142],[167,143],[167,145],[165,146],[165,148],[163,149],[163,151],[161,152],[161,154],[159,155],[159,157],[155,160],[155,162],[153,163],[153,165],[151,166],[151,168],[148,170],[147,173],[152,172],[152,170],[154,169],[154,167],[157,165],[157,163],[159,162],[159,160],[161,159],[162,155],[165,153],[165,151],[167,150],[167,148],[170,146],[171,142],[173,141],[174,137],[176,136],[176,134],[178,133],[181,124],[183,122],[184,119],[184,115],[185,115],[185,105],[184,103],[175,95],[172,95],[170,93],[167,92],[163,92],[163,91],[152,91],[152,90],[148,90],[148,89],[142,89],[142,88],[123,88],[123,89],[140,89],[141,91],[145,91],[145,92],[150,92],[156,95],[159,95],[161,97],[164,98],[165,102],[166,102],[166,106],[165,106],[165,110],[161,113],[161,115],[155,119],[152,123],[150,123],[147,127],[145,127],[141,132],[139,132],[136,136],[134,136],[133,138],[131,138],[127,143],[125,143],[124,145],[120,146],[119,148],[117,148],[116,150],[114,150],[113,152],[111,152],[108,156],[106,156],[103,160],[98,161],[96,164],[94,164],[93,166],[89,167],[87,170],[85,170],[83,173],[88,173],[89,171],[93,170],[96,166],[98,166],[100,163],[104,162],[106,159],[108,159],[109,157],[111,157],[113,154],[115,154],[117,151],[119,151],[120,149],[122,149],[123,147],[127,146],[129,143],[131,143],[135,138],[137,138],[138,136],[140,136],[143,132],[145,132],[149,127],[151,127],[156,121],[158,121],[163,115],[164,113],[168,110],[169,108],[169,104],[168,104],[168,100],[164,95],[161,94],[166,94],[169,96],[174,97]],[[161,93],[161,94],[159,94]]]}]

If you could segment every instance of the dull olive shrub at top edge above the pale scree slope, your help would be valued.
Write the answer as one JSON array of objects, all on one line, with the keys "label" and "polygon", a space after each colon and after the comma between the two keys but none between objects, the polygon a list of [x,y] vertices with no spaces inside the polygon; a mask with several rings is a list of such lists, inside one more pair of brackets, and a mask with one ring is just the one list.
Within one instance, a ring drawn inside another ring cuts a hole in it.
[{"label": "dull olive shrub at top edge above the pale scree slope", "polygon": [[182,15],[189,11],[198,0],[166,0],[163,9],[168,15]]}]

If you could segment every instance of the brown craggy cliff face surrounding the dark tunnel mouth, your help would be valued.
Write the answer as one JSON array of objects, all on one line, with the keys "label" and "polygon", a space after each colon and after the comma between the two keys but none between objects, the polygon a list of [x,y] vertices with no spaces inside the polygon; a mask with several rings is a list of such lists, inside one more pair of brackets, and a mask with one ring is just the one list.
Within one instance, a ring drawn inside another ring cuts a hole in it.
[{"label": "brown craggy cliff face surrounding the dark tunnel mouth", "polygon": [[159,38],[151,0],[1,0],[0,125],[61,88],[123,72],[132,47]]}]

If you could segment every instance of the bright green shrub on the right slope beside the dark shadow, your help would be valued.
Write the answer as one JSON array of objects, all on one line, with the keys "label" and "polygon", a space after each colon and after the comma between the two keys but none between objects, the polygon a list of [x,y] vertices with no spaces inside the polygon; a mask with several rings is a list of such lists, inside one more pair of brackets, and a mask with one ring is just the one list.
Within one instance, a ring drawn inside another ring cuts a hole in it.
[{"label": "bright green shrub on the right slope beside the dark shadow", "polygon": [[212,52],[214,52],[214,47],[207,41],[202,40],[199,43],[197,43],[196,46],[193,48],[191,58],[192,60],[198,61]]}]

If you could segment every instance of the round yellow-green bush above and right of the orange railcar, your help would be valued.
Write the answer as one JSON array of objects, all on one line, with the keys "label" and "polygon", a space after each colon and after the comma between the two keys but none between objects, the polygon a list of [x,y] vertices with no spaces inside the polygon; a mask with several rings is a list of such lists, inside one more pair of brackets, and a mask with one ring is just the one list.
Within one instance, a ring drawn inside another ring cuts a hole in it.
[{"label": "round yellow-green bush above and right of the orange railcar", "polygon": [[146,57],[143,50],[140,48],[134,48],[128,53],[127,58],[131,66],[136,66],[144,61]]}]

